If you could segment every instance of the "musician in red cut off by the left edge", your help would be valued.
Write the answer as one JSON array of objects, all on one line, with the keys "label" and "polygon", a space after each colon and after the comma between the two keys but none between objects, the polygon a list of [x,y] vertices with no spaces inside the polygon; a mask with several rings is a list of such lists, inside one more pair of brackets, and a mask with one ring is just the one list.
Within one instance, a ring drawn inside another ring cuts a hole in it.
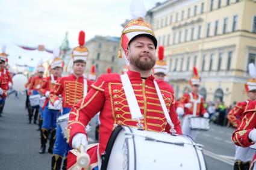
[{"label": "musician in red cut off by the left edge", "polygon": [[8,76],[4,68],[7,61],[7,53],[5,53],[5,46],[2,47],[2,53],[0,53],[0,117],[2,117],[2,111],[4,109],[5,98],[8,91]]}]

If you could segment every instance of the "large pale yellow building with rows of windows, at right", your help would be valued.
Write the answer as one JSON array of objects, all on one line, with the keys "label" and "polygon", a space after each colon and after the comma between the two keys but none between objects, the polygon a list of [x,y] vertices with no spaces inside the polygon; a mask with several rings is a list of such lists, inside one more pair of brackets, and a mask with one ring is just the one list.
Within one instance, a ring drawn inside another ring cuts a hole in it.
[{"label": "large pale yellow building with rows of windows, at right", "polygon": [[169,0],[146,16],[154,27],[176,97],[189,87],[193,67],[200,93],[226,105],[246,99],[248,64],[256,62],[256,2],[253,0]]}]

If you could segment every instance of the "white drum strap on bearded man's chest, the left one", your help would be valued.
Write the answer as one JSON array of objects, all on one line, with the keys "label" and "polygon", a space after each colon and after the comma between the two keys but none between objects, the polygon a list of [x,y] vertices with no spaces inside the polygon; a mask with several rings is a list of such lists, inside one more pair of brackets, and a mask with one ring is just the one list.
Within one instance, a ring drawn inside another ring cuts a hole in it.
[{"label": "white drum strap on bearded man's chest, the left one", "polygon": [[122,74],[120,77],[123,85],[123,90],[125,91],[128,106],[131,112],[131,118],[138,120],[142,118],[142,113],[140,112],[140,107],[135,97],[128,74]]}]

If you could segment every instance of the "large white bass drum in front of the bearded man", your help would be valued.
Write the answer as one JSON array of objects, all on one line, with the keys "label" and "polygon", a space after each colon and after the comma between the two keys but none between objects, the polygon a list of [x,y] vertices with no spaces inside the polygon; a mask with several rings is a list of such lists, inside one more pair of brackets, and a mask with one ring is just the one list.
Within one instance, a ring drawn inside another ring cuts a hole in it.
[{"label": "large white bass drum in front of the bearded man", "polygon": [[118,126],[111,134],[101,170],[207,169],[202,146],[184,135]]}]

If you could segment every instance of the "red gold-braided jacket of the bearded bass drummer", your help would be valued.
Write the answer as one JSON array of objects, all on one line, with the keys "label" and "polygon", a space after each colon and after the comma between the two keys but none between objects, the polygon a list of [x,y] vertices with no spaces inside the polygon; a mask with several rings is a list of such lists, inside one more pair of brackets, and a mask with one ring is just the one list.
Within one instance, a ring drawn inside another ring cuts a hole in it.
[{"label": "red gold-braided jacket of the bearded bass drummer", "polygon": [[[170,130],[155,90],[154,77],[146,80],[140,73],[127,72],[131,81],[140,111],[143,115],[143,129],[154,132],[168,132]],[[182,134],[180,121],[175,111],[175,99],[172,87],[163,80],[156,80],[163,95],[164,102],[170,114],[177,134]],[[72,145],[76,133],[86,134],[85,127],[100,111],[99,119],[99,153],[102,154],[108,139],[116,125],[137,127],[137,121],[131,119],[130,109],[122,87],[120,75],[116,73],[102,74],[92,85],[87,96],[73,106],[67,126],[67,141]]]}]

